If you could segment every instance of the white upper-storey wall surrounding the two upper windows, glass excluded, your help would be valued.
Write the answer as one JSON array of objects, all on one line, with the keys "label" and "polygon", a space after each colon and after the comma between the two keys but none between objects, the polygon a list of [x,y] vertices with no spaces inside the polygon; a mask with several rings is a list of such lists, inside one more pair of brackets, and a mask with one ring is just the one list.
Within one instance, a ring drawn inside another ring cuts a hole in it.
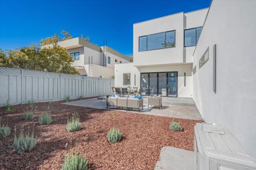
[{"label": "white upper-storey wall surrounding the two upper windows, glass excluded", "polygon": [[[133,24],[134,66],[193,63],[194,47],[184,47],[184,30],[202,27],[208,8]],[[139,52],[139,37],[175,30],[175,47]]]}]

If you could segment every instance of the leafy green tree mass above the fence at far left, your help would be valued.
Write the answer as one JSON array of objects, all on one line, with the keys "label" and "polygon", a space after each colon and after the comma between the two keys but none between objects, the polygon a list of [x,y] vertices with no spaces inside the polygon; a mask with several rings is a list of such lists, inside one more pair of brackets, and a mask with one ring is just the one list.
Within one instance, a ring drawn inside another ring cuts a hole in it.
[{"label": "leafy green tree mass above the fence at far left", "polygon": [[52,47],[41,49],[38,45],[8,50],[0,49],[0,66],[18,69],[78,74],[71,66],[73,58],[65,48],[56,43]]}]

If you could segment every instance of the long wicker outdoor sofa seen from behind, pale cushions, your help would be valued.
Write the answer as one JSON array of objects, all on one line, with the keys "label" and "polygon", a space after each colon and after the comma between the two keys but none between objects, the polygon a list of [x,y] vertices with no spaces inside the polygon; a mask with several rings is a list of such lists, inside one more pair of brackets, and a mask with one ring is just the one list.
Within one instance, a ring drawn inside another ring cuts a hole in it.
[{"label": "long wicker outdoor sofa seen from behind, pale cushions", "polygon": [[142,108],[143,110],[143,98],[137,99],[137,98],[130,98],[130,97],[108,97],[107,96],[107,108],[109,106],[118,108],[126,108],[126,110],[130,108],[138,109],[139,112]]}]

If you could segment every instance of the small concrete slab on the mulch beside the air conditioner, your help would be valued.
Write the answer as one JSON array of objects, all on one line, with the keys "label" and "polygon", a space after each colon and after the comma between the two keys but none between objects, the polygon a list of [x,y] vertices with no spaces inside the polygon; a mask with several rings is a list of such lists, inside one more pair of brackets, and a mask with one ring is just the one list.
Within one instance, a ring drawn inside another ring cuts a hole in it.
[{"label": "small concrete slab on the mulch beside the air conditioner", "polygon": [[194,170],[194,152],[163,147],[154,170]]}]

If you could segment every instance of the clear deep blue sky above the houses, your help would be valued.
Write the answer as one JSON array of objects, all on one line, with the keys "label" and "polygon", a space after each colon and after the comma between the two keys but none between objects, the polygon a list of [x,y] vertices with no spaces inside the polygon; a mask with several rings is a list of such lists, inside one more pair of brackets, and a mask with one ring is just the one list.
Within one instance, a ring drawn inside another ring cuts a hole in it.
[{"label": "clear deep blue sky above the houses", "polygon": [[133,48],[133,23],[177,12],[209,7],[211,0],[169,1],[13,1],[0,0],[0,48],[39,44],[40,39],[66,30],[73,37],[129,55]]}]

